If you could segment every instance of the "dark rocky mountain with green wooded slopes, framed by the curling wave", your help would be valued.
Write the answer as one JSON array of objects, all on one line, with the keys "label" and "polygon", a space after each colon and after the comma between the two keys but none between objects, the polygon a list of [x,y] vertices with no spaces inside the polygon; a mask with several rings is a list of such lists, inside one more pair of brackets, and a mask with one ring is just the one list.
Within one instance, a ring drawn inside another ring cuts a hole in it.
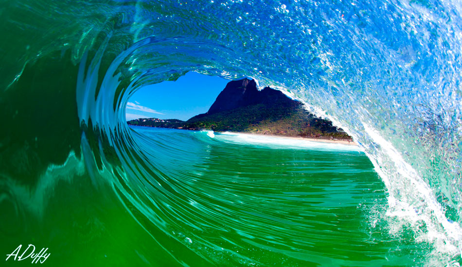
[{"label": "dark rocky mountain with green wooded slopes, framed by the curling wave", "polygon": [[335,127],[331,121],[306,111],[300,101],[292,100],[270,87],[258,90],[256,82],[249,79],[229,82],[206,113],[186,121],[139,118],[127,123],[356,144],[351,136]]}]

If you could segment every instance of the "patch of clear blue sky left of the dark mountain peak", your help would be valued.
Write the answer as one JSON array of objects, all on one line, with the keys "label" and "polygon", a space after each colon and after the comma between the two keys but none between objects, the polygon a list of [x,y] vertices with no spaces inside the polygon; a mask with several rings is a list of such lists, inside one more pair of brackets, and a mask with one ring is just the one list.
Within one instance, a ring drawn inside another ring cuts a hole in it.
[{"label": "patch of clear blue sky left of the dark mountain peak", "polygon": [[140,88],[128,100],[127,120],[156,117],[187,120],[205,113],[230,80],[188,72],[175,82],[162,82]]}]

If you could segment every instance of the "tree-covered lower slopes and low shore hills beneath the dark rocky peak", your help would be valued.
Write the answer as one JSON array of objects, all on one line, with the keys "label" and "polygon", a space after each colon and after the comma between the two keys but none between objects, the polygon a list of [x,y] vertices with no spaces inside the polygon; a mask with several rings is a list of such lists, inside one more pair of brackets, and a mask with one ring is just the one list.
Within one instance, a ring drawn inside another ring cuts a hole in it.
[{"label": "tree-covered lower slopes and low shore hills beneath the dark rocky peak", "polygon": [[192,117],[187,121],[154,118],[128,121],[130,125],[177,128],[187,130],[213,130],[215,132],[241,132],[301,136],[322,139],[352,140],[332,125],[332,122],[313,116],[298,101],[276,101]]}]

